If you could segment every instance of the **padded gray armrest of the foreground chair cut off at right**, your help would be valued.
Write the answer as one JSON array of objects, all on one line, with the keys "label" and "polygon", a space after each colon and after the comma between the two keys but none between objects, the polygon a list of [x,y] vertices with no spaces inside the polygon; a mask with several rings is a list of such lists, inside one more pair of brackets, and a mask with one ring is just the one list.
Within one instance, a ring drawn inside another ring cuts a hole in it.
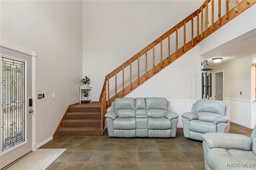
[{"label": "padded gray armrest of the foreground chair cut off at right", "polygon": [[252,139],[241,134],[206,133],[202,135],[209,148],[251,150]]}]

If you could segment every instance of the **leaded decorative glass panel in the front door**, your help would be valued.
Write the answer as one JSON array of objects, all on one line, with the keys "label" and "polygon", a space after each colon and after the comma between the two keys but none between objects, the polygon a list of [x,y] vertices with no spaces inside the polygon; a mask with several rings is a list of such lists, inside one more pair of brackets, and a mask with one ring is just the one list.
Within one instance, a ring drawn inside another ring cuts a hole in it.
[{"label": "leaded decorative glass panel in the front door", "polygon": [[1,56],[1,131],[4,152],[25,142],[25,62]]}]

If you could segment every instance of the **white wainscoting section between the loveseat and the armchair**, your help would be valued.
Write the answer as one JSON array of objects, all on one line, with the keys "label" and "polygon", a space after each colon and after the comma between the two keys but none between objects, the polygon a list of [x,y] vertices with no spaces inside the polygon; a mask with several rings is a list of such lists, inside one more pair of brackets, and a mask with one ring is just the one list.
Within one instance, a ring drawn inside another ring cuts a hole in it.
[{"label": "white wainscoting section between the loveseat and the armchair", "polygon": [[171,104],[171,111],[176,112],[179,115],[178,127],[183,127],[182,113],[191,112],[192,105],[196,103],[196,100],[168,100]]}]

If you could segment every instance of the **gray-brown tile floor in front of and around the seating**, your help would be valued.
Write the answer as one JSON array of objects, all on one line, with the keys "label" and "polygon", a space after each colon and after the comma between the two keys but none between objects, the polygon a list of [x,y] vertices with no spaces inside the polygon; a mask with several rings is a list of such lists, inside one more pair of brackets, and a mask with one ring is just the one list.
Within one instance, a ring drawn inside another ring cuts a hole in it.
[{"label": "gray-brown tile floor in front of and around the seating", "polygon": [[[202,142],[182,130],[176,138],[56,137],[40,148],[67,148],[48,170],[203,170]],[[252,129],[231,123],[230,133]]]}]

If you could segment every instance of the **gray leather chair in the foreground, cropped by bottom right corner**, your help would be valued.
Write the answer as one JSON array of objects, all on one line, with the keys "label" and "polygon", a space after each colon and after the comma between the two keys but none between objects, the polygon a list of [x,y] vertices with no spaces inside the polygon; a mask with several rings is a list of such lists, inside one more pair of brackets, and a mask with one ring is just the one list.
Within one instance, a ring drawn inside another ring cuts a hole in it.
[{"label": "gray leather chair in the foreground, cropped by bottom right corner", "polygon": [[207,133],[202,138],[206,170],[256,169],[256,125],[250,137]]}]

